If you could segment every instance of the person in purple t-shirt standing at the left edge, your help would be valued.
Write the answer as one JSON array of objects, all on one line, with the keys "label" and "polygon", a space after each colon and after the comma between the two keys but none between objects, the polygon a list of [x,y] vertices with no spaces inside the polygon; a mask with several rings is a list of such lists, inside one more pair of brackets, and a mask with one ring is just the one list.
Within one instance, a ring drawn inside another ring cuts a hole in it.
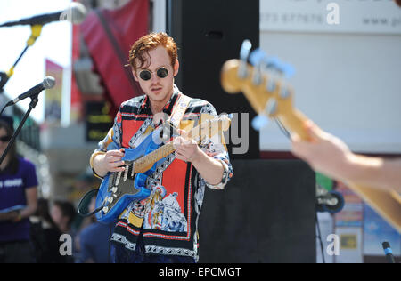
[{"label": "person in purple t-shirt standing at the left edge", "polygon": [[[12,125],[0,119],[0,155],[12,137]],[[15,145],[0,165],[0,263],[34,262],[29,245],[29,216],[37,209],[35,166],[16,154]]]}]

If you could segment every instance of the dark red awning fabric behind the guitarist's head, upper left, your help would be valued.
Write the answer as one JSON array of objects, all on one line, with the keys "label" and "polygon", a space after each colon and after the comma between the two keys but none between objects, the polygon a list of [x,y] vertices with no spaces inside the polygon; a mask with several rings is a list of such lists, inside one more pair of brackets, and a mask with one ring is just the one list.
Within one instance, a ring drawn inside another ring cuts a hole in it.
[{"label": "dark red awning fabric behind the guitarist's head, upper left", "polygon": [[121,102],[143,94],[124,65],[132,44],[148,33],[148,14],[149,0],[132,0],[118,10],[90,12],[80,26],[114,112]]}]

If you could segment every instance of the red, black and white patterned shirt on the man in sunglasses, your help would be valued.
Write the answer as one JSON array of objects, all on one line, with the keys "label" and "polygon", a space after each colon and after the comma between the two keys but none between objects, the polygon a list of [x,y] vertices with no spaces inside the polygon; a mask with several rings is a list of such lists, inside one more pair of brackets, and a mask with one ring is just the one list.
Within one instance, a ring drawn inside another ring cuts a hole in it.
[{"label": "red, black and white patterned shirt on the man in sunglasses", "polygon": [[[163,108],[163,113],[171,115],[181,94],[174,85],[173,95]],[[186,131],[192,129],[207,116],[217,117],[216,109],[208,101],[192,99],[181,119],[180,128]],[[113,127],[99,142],[99,149],[95,150],[91,159],[110,149],[137,147],[161,124],[155,125],[153,117],[146,95],[123,102]],[[119,216],[111,240],[134,251],[142,232],[146,253],[189,256],[197,261],[197,228],[205,187],[223,189],[233,177],[233,167],[224,141],[217,143],[212,140],[204,139],[200,148],[223,164],[224,173],[220,183],[209,184],[192,163],[176,159],[175,153],[171,153],[146,181],[146,188],[151,190],[150,197],[133,201],[127,206]]]}]

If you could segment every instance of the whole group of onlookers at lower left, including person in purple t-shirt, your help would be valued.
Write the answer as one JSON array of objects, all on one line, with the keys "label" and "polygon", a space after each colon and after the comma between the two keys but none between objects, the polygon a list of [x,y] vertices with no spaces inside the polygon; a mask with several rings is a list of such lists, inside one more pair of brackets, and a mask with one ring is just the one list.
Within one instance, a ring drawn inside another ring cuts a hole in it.
[{"label": "whole group of onlookers at lower left, including person in purple t-shirt", "polygon": [[[12,123],[0,118],[0,155],[11,141]],[[83,220],[69,200],[38,198],[37,186],[35,165],[13,145],[0,165],[0,263],[108,262],[109,226],[94,217]],[[70,245],[63,245],[65,235]]]}]

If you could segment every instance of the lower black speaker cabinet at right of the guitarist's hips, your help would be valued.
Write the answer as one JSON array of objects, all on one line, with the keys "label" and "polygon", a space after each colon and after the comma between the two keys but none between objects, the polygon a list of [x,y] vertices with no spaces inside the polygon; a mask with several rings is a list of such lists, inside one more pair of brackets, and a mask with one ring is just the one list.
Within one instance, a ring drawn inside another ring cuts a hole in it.
[{"label": "lower black speaker cabinet at right of the guitarist's hips", "polygon": [[233,179],[207,189],[200,262],[315,262],[315,173],[299,160],[233,160]]}]

